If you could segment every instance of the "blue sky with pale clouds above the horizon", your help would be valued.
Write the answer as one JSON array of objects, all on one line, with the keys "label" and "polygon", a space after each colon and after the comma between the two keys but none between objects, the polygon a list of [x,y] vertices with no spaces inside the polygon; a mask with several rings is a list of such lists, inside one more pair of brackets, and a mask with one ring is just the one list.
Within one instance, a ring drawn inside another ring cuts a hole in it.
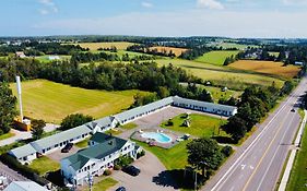
[{"label": "blue sky with pale clouds above the horizon", "polygon": [[307,38],[307,0],[0,0],[0,36]]}]

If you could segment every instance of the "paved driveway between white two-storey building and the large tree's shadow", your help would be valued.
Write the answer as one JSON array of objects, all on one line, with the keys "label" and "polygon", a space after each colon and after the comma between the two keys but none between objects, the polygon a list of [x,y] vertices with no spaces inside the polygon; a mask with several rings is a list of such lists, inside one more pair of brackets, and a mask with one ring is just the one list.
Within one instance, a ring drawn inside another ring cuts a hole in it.
[{"label": "paved driveway between white two-storey building and the large tree's shadow", "polygon": [[[157,180],[157,176],[165,171],[163,164],[152,153],[146,152],[146,155],[135,160],[133,165],[141,169],[141,174],[132,177],[123,171],[114,171],[113,178],[119,181],[117,186],[109,189],[115,191],[118,187],[125,187],[127,191],[174,191],[174,187],[164,187],[155,182],[167,182],[176,187],[174,180],[168,176],[162,177],[162,181]],[[161,176],[160,176],[161,177]],[[154,182],[154,181],[155,182]]]}]

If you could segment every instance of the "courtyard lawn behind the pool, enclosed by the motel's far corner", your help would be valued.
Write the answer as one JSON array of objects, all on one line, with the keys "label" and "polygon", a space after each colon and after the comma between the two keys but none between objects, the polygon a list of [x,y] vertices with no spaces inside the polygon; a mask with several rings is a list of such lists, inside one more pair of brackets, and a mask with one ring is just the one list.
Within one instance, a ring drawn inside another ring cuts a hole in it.
[{"label": "courtyard lawn behind the pool, enclosed by the motel's far corner", "polygon": [[[184,121],[187,119],[185,118],[185,114],[179,115],[172,119],[174,122],[173,126],[167,126],[168,121],[165,121],[161,124],[162,128],[169,129],[172,131],[178,131],[182,133],[188,133],[194,136],[205,136],[211,138],[212,135],[219,134],[219,127],[226,123],[226,120],[214,118],[210,116],[197,115],[192,114],[189,115],[190,117],[190,127],[182,127]],[[221,130],[221,136],[227,136],[227,134]]]}]

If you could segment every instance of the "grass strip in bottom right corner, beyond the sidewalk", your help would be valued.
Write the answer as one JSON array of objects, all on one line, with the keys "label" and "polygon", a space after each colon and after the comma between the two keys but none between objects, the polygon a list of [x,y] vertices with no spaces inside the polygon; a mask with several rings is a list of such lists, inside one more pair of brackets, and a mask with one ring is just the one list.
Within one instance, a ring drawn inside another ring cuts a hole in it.
[{"label": "grass strip in bottom right corner, beyond the sidewalk", "polygon": [[307,190],[307,127],[305,127],[305,132],[302,140],[302,147],[295,157],[286,191]]}]

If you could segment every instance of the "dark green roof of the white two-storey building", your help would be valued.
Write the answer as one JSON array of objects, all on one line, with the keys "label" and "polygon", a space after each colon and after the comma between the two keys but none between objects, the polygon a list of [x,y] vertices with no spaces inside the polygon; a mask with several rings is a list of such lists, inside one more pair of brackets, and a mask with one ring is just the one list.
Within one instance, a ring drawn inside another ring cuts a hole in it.
[{"label": "dark green roof of the white two-storey building", "polygon": [[91,158],[102,159],[119,150],[127,143],[127,140],[120,138],[110,136],[101,132],[95,133],[92,139],[99,144],[91,146],[86,150],[78,152],[67,158],[71,163],[71,167],[74,170],[81,169]]}]

